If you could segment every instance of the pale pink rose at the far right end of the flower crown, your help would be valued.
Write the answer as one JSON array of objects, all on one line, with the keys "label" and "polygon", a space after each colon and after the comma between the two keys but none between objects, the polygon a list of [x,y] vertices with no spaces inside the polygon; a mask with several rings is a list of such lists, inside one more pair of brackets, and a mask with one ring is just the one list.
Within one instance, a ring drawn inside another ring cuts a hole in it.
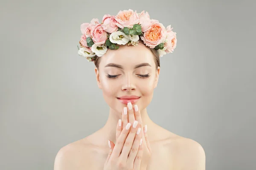
[{"label": "pale pink rose at the far right end of the flower crown", "polygon": [[166,48],[166,53],[172,53],[174,49],[176,48],[177,44],[177,38],[176,38],[176,32],[172,31],[171,25],[166,27],[167,32],[167,42],[164,43],[164,47]]}]

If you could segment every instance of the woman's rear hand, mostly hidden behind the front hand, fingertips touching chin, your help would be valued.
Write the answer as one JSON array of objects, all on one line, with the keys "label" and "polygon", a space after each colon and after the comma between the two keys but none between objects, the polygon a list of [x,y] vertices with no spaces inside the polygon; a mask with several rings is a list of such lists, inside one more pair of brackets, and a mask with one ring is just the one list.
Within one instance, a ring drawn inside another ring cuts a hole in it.
[{"label": "woman's rear hand, mostly hidden behind the front hand, fingertips touching chin", "polygon": [[[122,122],[121,127],[117,127],[116,129],[116,140],[118,139],[122,128],[124,128],[128,123],[133,123],[134,121],[138,121],[139,124],[142,124],[142,118],[140,114],[140,110],[138,109],[137,105],[131,105],[131,102],[127,104],[127,107],[123,109],[122,112],[122,120],[119,119],[120,122]],[[147,134],[147,125],[145,125],[144,128],[142,128],[142,140],[143,140],[143,158],[141,161],[141,169],[146,169],[148,166],[148,162],[151,158],[151,147],[148,140],[148,134]]]}]

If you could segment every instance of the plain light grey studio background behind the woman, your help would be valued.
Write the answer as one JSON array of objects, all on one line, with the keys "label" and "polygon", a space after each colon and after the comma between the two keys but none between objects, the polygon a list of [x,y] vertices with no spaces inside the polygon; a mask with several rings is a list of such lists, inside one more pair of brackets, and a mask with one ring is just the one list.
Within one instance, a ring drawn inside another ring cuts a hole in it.
[{"label": "plain light grey studio background behind the woman", "polygon": [[66,144],[102,127],[108,105],[77,54],[81,23],[148,11],[177,32],[148,106],[199,142],[207,170],[256,169],[256,3],[238,0],[5,1],[0,5],[0,169],[52,170]]}]

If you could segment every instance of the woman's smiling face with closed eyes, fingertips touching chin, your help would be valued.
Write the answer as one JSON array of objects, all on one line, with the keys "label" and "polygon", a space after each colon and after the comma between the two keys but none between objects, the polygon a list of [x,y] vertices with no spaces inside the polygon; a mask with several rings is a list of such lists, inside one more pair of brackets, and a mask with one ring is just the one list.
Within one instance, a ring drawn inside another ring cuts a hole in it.
[{"label": "woman's smiling face with closed eyes, fingertips touching chin", "polygon": [[148,106],[157,86],[160,68],[156,69],[154,55],[144,45],[120,45],[108,49],[101,57],[96,79],[105,101],[111,109],[122,114],[130,101],[140,111]]}]

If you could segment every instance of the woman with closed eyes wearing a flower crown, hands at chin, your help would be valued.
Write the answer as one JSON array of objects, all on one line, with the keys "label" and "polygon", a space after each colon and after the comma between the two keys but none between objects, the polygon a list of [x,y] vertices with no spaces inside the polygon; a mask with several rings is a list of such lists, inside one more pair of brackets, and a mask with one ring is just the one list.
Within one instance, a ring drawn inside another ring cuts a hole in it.
[{"label": "woman with closed eyes wearing a flower crown, hands at chin", "polygon": [[146,107],[160,73],[160,56],[176,47],[176,33],[148,13],[129,9],[81,25],[79,55],[96,65],[97,84],[110,107],[106,124],[68,144],[55,170],[205,170],[200,144],[155,124]]}]

